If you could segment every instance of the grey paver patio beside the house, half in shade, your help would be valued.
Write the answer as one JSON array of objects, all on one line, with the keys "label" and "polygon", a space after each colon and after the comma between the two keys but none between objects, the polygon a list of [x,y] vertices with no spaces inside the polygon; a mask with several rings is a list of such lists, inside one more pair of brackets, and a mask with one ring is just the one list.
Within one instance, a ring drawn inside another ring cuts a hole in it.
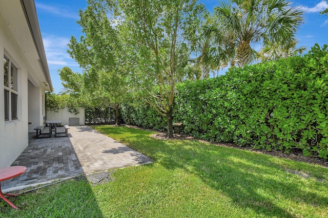
[{"label": "grey paver patio beside the house, half in shade", "polygon": [[151,163],[147,156],[89,126],[70,126],[68,137],[29,135],[29,145],[12,163],[26,166],[23,175],[1,183],[10,192],[84,173]]}]

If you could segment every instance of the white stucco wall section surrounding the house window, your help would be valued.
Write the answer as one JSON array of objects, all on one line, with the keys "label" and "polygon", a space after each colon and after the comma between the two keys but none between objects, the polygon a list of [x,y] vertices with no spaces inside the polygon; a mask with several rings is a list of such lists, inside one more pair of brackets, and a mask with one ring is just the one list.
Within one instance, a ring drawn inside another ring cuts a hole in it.
[{"label": "white stucco wall section surrounding the house window", "polygon": [[[18,69],[17,116],[5,122],[4,106],[0,107],[0,167],[9,166],[28,145],[27,64],[22,51],[0,15],[0,57],[6,55]],[[4,105],[4,68],[0,68],[0,105]]]}]

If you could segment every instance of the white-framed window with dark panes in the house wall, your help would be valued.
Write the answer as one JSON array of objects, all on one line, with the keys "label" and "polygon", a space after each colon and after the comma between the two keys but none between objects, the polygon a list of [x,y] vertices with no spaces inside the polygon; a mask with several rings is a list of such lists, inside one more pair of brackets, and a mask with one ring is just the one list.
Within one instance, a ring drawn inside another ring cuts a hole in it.
[{"label": "white-framed window with dark panes in the house wall", "polygon": [[17,68],[4,56],[5,121],[17,120]]}]

